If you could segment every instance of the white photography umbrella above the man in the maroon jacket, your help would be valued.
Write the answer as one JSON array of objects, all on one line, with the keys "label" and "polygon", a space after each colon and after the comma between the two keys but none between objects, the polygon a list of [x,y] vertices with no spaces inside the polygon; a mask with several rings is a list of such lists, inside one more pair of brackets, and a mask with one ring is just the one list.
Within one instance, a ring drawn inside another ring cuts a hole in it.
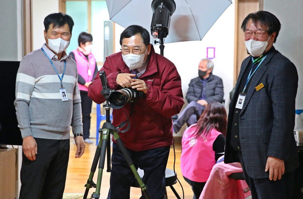
[{"label": "white photography umbrella above the man in the maroon jacket", "polygon": [[225,9],[231,5],[231,0],[106,0],[110,20],[124,28],[129,25],[141,25],[150,34],[153,12],[155,8],[161,7],[161,3],[163,9],[168,8],[171,15],[168,19],[170,22],[165,43],[172,43],[202,40]]}]

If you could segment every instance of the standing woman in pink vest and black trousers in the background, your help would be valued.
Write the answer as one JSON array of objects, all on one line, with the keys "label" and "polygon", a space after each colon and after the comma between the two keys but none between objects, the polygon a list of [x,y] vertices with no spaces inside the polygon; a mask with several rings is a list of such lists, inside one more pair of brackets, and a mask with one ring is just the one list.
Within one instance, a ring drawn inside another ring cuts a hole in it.
[{"label": "standing woman in pink vest and black trousers in the background", "polygon": [[77,46],[77,49],[69,53],[72,56],[72,59],[77,63],[78,85],[82,106],[83,138],[84,142],[89,144],[93,143],[93,141],[89,139],[92,100],[87,96],[87,93],[88,85],[92,83],[92,80],[98,72],[95,56],[91,52],[92,41],[93,37],[91,34],[81,32],[78,37],[79,46]]}]

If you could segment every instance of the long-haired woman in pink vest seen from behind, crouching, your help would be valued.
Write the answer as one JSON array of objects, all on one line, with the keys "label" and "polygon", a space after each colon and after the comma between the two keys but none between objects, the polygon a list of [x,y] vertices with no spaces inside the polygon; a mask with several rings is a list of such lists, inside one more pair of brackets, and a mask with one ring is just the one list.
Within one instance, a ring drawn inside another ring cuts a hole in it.
[{"label": "long-haired woman in pink vest seen from behind, crouching", "polygon": [[183,133],[181,172],[198,199],[212,167],[224,152],[226,134],[226,111],[222,103],[212,102],[206,106],[198,123]]}]

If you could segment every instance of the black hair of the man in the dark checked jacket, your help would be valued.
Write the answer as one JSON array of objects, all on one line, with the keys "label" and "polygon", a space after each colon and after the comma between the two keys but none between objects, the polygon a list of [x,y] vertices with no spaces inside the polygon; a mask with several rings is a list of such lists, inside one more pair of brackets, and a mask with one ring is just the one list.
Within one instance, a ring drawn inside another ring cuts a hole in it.
[{"label": "black hair of the man in the dark checked jacket", "polygon": [[247,25],[247,23],[250,19],[252,20],[252,22],[254,24],[259,22],[260,25],[263,25],[263,26],[267,27],[268,28],[268,30],[267,30],[268,35],[271,35],[273,32],[275,32],[276,36],[275,36],[275,39],[274,39],[274,43],[276,42],[279,31],[281,29],[281,23],[275,15],[273,15],[270,12],[263,11],[263,10],[260,10],[258,12],[250,13],[245,17],[245,19],[242,22],[241,29],[243,31],[245,31],[246,25]]}]

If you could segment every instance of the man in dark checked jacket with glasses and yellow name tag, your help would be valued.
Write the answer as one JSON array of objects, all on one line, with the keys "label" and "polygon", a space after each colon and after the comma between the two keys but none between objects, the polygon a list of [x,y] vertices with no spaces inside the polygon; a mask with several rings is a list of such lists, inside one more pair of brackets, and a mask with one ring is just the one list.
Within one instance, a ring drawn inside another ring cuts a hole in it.
[{"label": "man in dark checked jacket with glasses and yellow name tag", "polygon": [[241,25],[250,56],[229,104],[224,162],[240,161],[253,199],[292,198],[299,166],[293,134],[298,73],[273,46],[280,28],[266,11],[247,15]]}]

